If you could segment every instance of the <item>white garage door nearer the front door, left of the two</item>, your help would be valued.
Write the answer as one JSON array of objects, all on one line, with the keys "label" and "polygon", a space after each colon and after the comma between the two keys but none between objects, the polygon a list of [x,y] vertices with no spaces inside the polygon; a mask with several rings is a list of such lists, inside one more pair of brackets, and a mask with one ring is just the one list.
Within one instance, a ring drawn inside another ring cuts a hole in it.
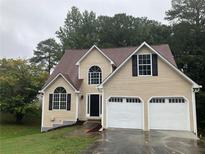
[{"label": "white garage door nearer the front door, left of the two", "polygon": [[143,104],[140,99],[111,97],[107,105],[108,127],[143,128]]}]

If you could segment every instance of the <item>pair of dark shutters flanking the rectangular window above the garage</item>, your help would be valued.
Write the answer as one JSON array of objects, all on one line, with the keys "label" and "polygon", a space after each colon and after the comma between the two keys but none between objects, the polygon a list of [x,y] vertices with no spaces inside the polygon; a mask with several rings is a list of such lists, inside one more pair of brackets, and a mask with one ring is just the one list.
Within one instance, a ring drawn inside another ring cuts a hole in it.
[{"label": "pair of dark shutters flanking the rectangular window above the garage", "polygon": [[[152,54],[152,75],[158,76],[158,56],[157,54]],[[132,56],[132,76],[138,76],[138,66],[137,66],[137,55]]]}]

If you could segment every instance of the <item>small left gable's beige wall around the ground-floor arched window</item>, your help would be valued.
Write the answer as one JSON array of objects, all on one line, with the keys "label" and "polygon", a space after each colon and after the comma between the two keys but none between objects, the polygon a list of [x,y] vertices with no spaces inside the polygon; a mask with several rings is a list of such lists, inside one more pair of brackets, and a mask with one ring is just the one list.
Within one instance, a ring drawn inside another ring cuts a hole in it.
[{"label": "small left gable's beige wall around the ground-floor arched window", "polygon": [[[70,95],[70,109],[56,110],[53,108],[54,105],[54,91],[58,87],[63,87],[66,90],[66,93]],[[52,99],[50,96],[53,95]],[[51,129],[54,127],[55,123],[62,124],[63,121],[76,121],[76,92],[73,89],[62,75],[58,75],[55,80],[53,80],[47,87],[44,89],[43,102],[42,102],[42,127],[45,130]]]}]

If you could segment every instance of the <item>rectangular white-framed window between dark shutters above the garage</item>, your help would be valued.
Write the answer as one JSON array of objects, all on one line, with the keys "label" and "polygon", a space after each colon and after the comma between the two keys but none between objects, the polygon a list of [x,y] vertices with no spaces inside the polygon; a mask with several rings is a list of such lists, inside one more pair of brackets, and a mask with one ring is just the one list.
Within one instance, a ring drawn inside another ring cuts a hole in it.
[{"label": "rectangular white-framed window between dark shutters above the garage", "polygon": [[138,70],[139,75],[151,75],[152,72],[152,62],[151,54],[138,55]]}]

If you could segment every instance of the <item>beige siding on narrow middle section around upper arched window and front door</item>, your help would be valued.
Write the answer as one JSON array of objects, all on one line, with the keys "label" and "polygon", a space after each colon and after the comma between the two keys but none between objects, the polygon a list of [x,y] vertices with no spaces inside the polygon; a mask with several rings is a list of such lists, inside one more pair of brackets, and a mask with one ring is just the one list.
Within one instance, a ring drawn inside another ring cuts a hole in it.
[{"label": "beige siding on narrow middle section around upper arched window and front door", "polygon": [[79,102],[79,119],[86,120],[86,95],[88,93],[99,93],[96,86],[88,84],[88,70],[92,66],[99,66],[102,70],[102,80],[104,80],[111,72],[112,65],[110,61],[104,57],[97,49],[93,49],[81,62],[79,65],[80,78],[83,79],[81,85],[81,96]]}]

